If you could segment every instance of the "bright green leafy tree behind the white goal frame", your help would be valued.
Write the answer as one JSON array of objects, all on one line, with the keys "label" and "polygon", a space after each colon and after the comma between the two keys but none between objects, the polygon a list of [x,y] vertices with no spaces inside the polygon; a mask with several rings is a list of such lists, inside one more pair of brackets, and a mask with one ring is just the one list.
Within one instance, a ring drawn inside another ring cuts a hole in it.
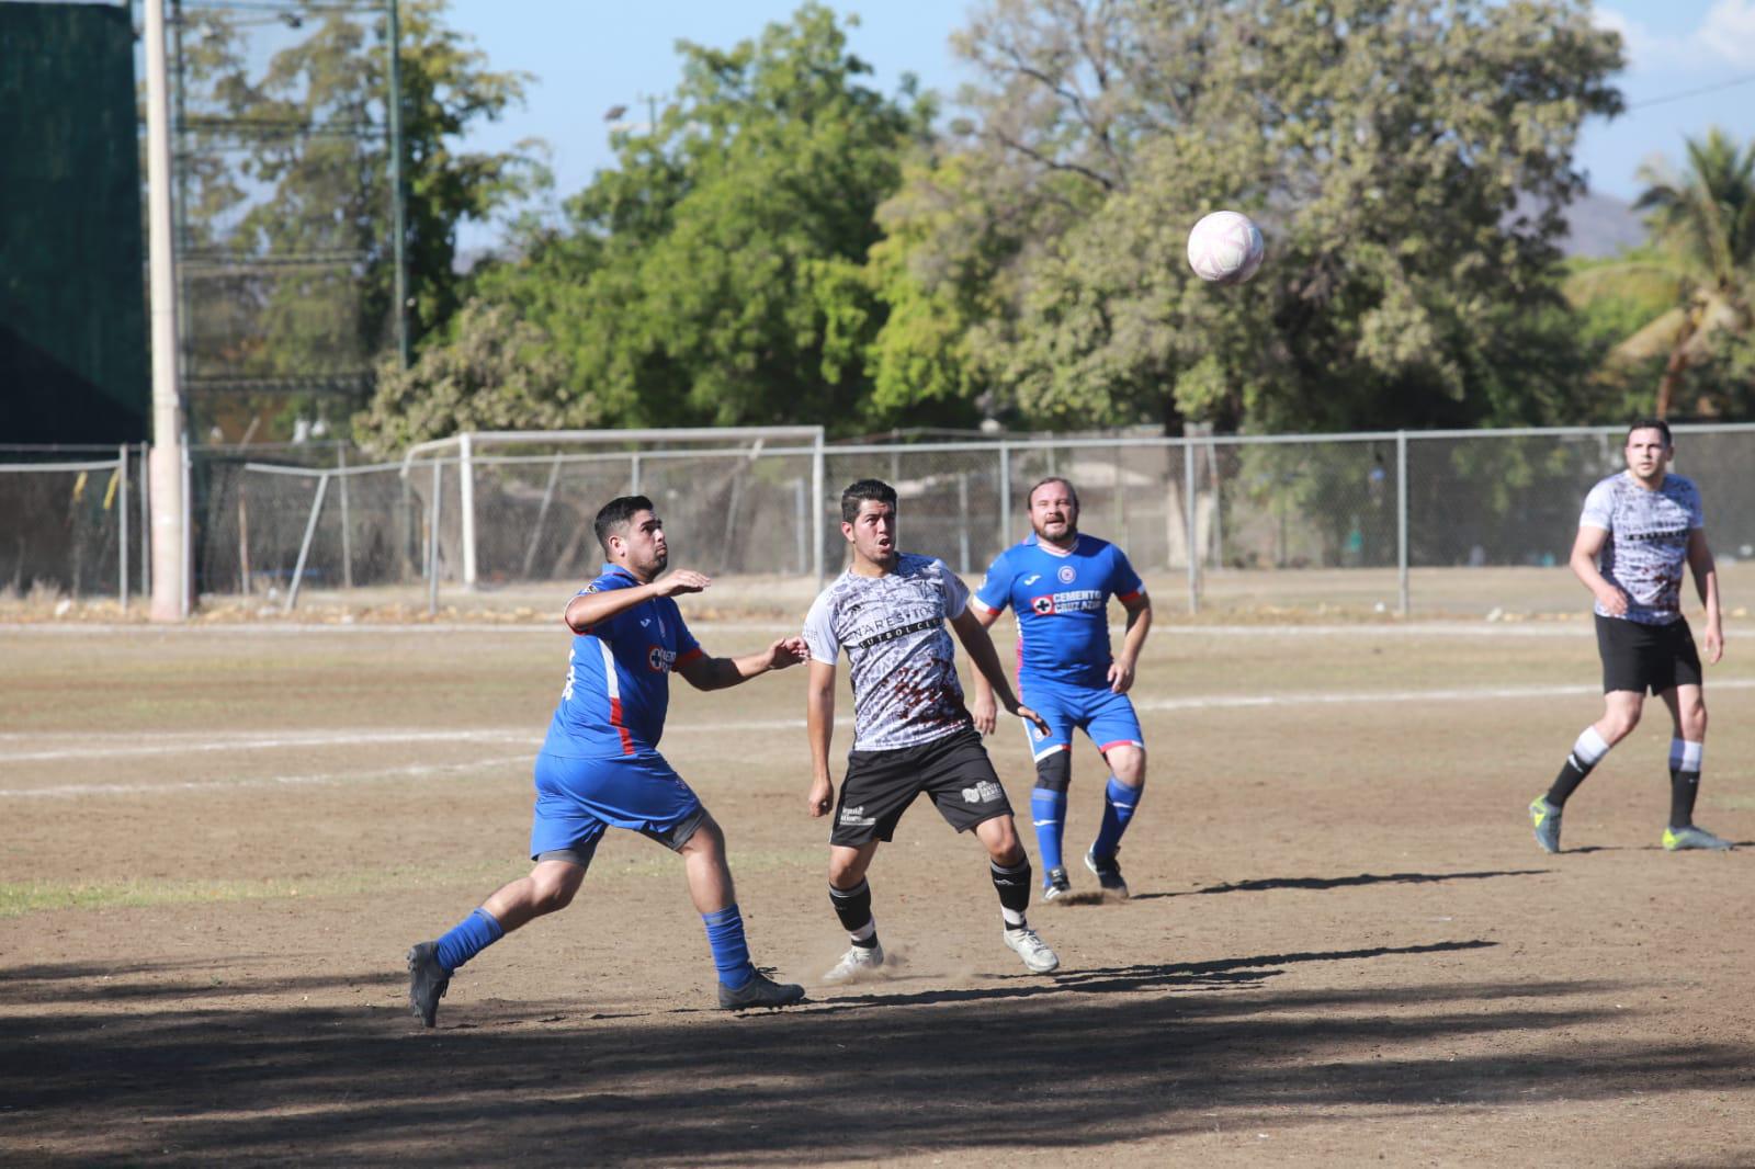
[{"label": "bright green leafy tree behind the white goal frame", "polygon": [[932,105],[863,84],[820,4],[732,49],[677,49],[658,125],[618,133],[567,225],[477,291],[551,339],[569,425],[853,427],[883,319],[862,274],[874,212]]}]

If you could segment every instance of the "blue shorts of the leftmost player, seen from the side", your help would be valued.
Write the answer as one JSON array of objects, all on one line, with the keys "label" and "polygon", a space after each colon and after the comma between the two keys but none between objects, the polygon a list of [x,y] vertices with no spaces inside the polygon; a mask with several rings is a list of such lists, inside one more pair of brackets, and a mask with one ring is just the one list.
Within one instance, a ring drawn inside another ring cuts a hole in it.
[{"label": "blue shorts of the leftmost player, seen from the side", "polygon": [[616,758],[537,755],[530,858],[590,864],[604,828],[628,828],[672,850],[707,818],[700,797],[656,751]]}]

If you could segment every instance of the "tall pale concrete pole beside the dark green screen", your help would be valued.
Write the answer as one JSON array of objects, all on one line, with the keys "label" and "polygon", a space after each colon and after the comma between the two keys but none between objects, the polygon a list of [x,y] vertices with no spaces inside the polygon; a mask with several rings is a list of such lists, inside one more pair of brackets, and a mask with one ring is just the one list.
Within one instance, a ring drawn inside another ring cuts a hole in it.
[{"label": "tall pale concrete pole beside the dark green screen", "polygon": [[146,0],[146,186],[147,267],[153,314],[153,498],[154,621],[190,613],[183,546],[183,390],[177,384],[177,288],[170,214],[170,100],[165,82],[165,2]]}]

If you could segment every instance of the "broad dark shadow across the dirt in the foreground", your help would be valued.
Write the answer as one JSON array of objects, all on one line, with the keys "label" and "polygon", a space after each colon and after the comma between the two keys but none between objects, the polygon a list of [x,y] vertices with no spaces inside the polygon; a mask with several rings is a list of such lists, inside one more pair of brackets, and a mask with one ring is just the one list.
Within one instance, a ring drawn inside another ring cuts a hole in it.
[{"label": "broad dark shadow across the dirt in the foreground", "polygon": [[[1567,1036],[1625,1022],[1592,1006],[1616,983],[1274,988],[1293,965],[1492,944],[1088,969],[846,993],[762,1016],[655,1008],[602,1018],[577,1000],[486,1002],[444,1009],[437,1032],[402,1011],[240,1009],[235,999],[179,1011],[123,995],[91,1009],[88,979],[111,971],[23,967],[0,972],[0,1151],[81,1164],[218,1153],[660,1165],[1023,1144],[1072,1157],[1206,1130],[1225,1109],[1251,1125],[1320,1123],[1323,1108],[1750,1087],[1744,1046]],[[200,1004],[200,979],[170,972]],[[328,979],[330,990],[362,985],[379,997],[390,988],[379,972]]]}]

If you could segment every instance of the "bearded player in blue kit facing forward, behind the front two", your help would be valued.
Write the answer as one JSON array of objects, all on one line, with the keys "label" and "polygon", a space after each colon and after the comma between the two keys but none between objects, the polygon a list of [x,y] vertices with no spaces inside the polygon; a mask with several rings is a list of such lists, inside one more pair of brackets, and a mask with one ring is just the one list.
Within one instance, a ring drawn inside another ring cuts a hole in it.
[{"label": "bearded player in blue kit facing forward, behind the front two", "polygon": [[[1109,765],[1102,823],[1085,851],[1104,895],[1127,897],[1116,853],[1146,786],[1146,741],[1127,692],[1151,628],[1151,600],[1127,555],[1079,532],[1079,493],[1058,477],[1027,497],[1030,535],[1002,551],[969,604],[983,627],[1011,606],[1018,616],[1018,693],[1048,720],[1048,732],[1025,727],[1035,758],[1030,821],[1042,857],[1042,899],[1072,890],[1060,843],[1072,781],[1072,730],[1083,730]],[[1121,653],[1109,651],[1109,599],[1127,609]],[[997,721],[993,693],[976,678],[976,728]]]}]

